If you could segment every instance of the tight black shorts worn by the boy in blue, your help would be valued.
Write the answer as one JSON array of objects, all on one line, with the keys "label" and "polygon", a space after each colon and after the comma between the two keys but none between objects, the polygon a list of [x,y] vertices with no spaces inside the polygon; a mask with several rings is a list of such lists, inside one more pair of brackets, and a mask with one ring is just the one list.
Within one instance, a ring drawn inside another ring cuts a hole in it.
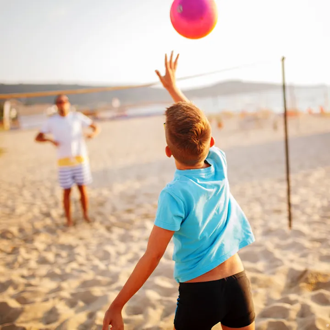
[{"label": "tight black shorts worn by the boy in blue", "polygon": [[180,283],[176,330],[211,330],[219,322],[229,328],[243,328],[254,318],[245,271],[217,281]]}]

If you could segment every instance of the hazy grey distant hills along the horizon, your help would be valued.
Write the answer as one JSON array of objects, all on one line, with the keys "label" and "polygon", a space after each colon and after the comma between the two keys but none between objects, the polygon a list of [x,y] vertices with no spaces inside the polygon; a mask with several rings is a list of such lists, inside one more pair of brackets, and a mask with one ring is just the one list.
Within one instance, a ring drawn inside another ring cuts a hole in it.
[{"label": "hazy grey distant hills along the horizon", "polygon": [[[0,94],[29,93],[38,91],[55,91],[80,88],[93,88],[97,86],[69,85],[69,84],[0,84]],[[279,89],[281,86],[275,83],[227,81],[214,85],[184,90],[188,98],[205,98],[228,94],[240,94],[262,92]],[[308,88],[308,87],[307,87]],[[75,94],[70,95],[72,104],[81,106],[96,106],[100,103],[110,103],[113,98],[118,98],[122,105],[139,103],[157,103],[170,101],[168,94],[162,88],[141,87],[119,91]],[[53,97],[38,97],[20,99],[25,104],[52,103]],[[1,101],[1,100],[0,100]]]}]

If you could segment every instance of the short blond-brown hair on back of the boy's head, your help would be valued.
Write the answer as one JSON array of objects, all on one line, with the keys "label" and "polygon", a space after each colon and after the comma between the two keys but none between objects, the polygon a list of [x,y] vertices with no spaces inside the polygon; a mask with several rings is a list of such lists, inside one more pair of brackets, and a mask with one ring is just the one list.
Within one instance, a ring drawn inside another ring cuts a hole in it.
[{"label": "short blond-brown hair on back of the boy's head", "polygon": [[209,153],[211,125],[192,103],[178,102],[165,111],[166,143],[173,157],[184,165],[204,161]]}]

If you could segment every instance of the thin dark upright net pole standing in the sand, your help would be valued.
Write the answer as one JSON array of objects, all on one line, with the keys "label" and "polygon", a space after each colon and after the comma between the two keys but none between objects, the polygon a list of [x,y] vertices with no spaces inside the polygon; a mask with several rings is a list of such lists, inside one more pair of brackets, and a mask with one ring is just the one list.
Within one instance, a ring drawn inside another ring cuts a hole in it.
[{"label": "thin dark upright net pole standing in the sand", "polygon": [[289,229],[292,228],[291,216],[291,187],[290,187],[290,162],[289,162],[289,141],[288,141],[288,115],[286,107],[286,84],[285,84],[285,57],[282,57],[282,87],[283,87],[283,105],[284,105],[284,136],[285,136],[285,167],[286,167],[286,186],[287,186],[287,203],[288,203],[288,219]]}]

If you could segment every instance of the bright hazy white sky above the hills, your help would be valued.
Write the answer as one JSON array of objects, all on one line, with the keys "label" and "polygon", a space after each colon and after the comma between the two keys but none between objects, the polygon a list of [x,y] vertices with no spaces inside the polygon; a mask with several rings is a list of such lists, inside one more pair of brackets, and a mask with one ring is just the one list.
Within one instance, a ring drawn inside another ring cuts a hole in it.
[{"label": "bright hazy white sky above the hills", "polygon": [[146,83],[180,52],[178,76],[268,61],[186,82],[330,84],[330,0],[216,0],[214,31],[188,40],[171,0],[0,0],[0,82]]}]

